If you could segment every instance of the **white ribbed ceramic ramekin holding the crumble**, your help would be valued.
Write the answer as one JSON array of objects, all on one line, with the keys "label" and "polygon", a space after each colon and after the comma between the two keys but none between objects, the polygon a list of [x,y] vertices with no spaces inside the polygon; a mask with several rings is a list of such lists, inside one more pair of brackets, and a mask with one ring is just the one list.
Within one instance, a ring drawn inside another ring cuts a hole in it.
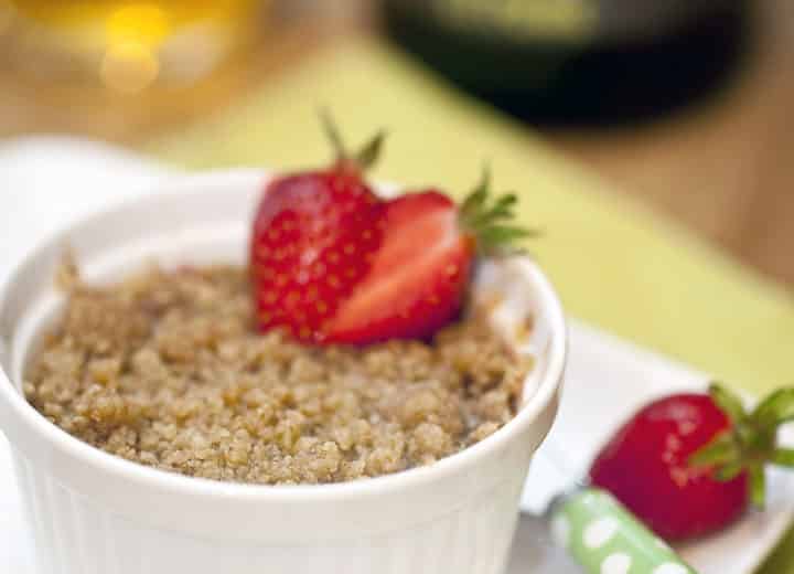
[{"label": "white ribbed ceramic ramekin holding the crumble", "polygon": [[[42,574],[491,574],[504,568],[529,461],[557,410],[566,355],[559,301],[526,258],[482,270],[494,322],[537,363],[517,416],[429,467],[340,485],[259,487],[162,472],[61,431],[23,398],[22,372],[57,311],[54,272],[69,245],[89,280],[147,258],[243,262],[267,176],[181,177],[92,216],[33,251],[0,304],[0,427],[12,445]],[[77,192],[77,191],[75,191]],[[112,190],[108,190],[112,193]],[[516,321],[535,330],[517,340]]]}]

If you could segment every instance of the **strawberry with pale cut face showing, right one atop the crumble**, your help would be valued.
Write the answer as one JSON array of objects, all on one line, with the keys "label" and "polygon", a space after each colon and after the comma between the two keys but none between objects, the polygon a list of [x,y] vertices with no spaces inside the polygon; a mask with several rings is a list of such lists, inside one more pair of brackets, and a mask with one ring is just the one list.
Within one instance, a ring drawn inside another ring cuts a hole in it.
[{"label": "strawberry with pale cut face showing, right one atop the crumble", "polygon": [[478,252],[528,232],[509,224],[515,195],[489,204],[490,178],[459,209],[436,190],[386,204],[383,243],[366,277],[326,326],[328,341],[365,344],[431,337],[463,306]]}]

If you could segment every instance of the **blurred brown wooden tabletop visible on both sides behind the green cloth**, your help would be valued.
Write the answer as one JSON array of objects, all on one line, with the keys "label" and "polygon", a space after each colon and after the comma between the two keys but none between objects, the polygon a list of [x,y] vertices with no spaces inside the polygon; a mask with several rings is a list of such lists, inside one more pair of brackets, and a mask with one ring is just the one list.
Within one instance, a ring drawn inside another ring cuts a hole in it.
[{"label": "blurred brown wooden tabletop visible on both sides behind the green cloth", "polygon": [[[547,137],[616,189],[794,287],[794,6],[762,1],[760,45],[741,82],[719,102],[645,128]],[[366,19],[345,12],[270,22],[256,46],[238,51],[197,85],[137,96],[47,82],[0,56],[0,137],[60,131],[144,141],[234,105],[339,34],[363,28]]]}]

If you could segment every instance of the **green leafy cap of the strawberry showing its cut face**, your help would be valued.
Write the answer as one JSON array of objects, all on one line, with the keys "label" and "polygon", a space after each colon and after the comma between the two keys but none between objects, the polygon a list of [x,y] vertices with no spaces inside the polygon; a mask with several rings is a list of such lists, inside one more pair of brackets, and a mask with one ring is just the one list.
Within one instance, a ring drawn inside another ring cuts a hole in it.
[{"label": "green leafy cap of the strawberry showing its cut face", "polygon": [[518,203],[515,193],[505,193],[495,199],[491,194],[491,169],[486,164],[480,182],[463,200],[460,208],[460,223],[471,233],[478,249],[484,255],[505,255],[521,252],[515,243],[538,233],[521,225],[514,225],[514,208]]}]

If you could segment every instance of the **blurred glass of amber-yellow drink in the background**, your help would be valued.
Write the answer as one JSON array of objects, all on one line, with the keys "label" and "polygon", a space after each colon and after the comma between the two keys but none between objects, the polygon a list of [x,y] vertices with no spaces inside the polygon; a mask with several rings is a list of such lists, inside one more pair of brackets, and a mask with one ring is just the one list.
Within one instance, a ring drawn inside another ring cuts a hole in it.
[{"label": "blurred glass of amber-yellow drink in the background", "polygon": [[205,75],[250,39],[265,4],[0,0],[0,21],[13,35],[17,67],[39,75],[88,74],[115,91],[135,93],[155,81],[189,83]]}]

